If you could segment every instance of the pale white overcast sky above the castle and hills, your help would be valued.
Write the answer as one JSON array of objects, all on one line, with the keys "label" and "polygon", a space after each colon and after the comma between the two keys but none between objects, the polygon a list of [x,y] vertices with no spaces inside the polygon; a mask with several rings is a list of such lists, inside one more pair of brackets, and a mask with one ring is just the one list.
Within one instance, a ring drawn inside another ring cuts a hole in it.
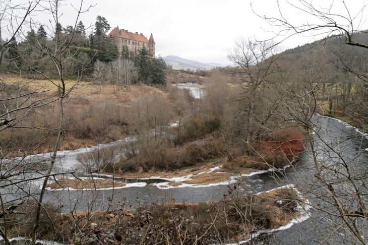
[{"label": "pale white overcast sky above the castle and hills", "polygon": [[[295,0],[290,0],[295,3]],[[67,0],[62,8],[63,16],[59,22],[63,27],[74,25],[75,11],[71,7],[77,0]],[[316,5],[326,7],[330,0],[314,1]],[[352,16],[363,6],[362,0],[348,0]],[[85,26],[94,25],[98,15],[107,19],[111,28],[119,26],[131,32],[143,33],[149,38],[151,32],[156,41],[156,55],[170,54],[199,62],[230,64],[226,58],[228,51],[239,37],[255,36],[257,39],[271,37],[270,31],[277,31],[265,20],[256,16],[277,16],[276,0],[88,0],[84,5],[95,5],[88,13],[81,14],[80,20]],[[306,23],[312,18],[303,15],[286,5],[281,5],[285,17],[294,23]],[[334,13],[347,15],[341,1],[334,2]],[[366,14],[366,13],[365,13]],[[368,15],[365,15],[368,16]],[[359,29],[368,29],[363,17],[358,16]],[[44,14],[33,17],[34,20],[48,24]],[[313,39],[298,36],[283,43],[284,48],[295,47]]]}]

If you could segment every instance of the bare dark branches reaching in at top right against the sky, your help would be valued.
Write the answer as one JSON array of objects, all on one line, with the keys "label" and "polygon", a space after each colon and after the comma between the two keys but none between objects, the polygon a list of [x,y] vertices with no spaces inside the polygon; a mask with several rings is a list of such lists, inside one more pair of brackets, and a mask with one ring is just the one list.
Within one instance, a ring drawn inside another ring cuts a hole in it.
[{"label": "bare dark branches reaching in at top right against the sky", "polygon": [[[258,10],[253,12],[265,19],[271,26],[275,27],[276,36],[282,40],[293,35],[303,34],[316,38],[329,38],[339,36],[341,41],[347,45],[368,48],[367,44],[354,41],[356,32],[361,32],[365,19],[365,1],[360,2],[358,10],[354,11],[353,6],[357,3],[345,0],[315,3],[313,1],[275,1],[278,8],[278,16],[260,14]],[[252,5],[251,5],[252,6]],[[286,9],[288,9],[286,11]],[[293,13],[290,9],[298,12],[298,15],[308,19],[307,23],[300,22],[298,19],[289,18],[288,14]]]}]

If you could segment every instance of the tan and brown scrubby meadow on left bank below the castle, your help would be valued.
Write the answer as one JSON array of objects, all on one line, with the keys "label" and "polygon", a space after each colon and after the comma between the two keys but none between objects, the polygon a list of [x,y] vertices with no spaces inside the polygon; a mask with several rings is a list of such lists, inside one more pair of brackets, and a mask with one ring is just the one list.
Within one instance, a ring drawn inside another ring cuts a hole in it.
[{"label": "tan and brown scrubby meadow on left bank below the castle", "polygon": [[[13,80],[16,78],[12,78]],[[69,84],[67,83],[67,88]],[[34,81],[35,86],[42,86],[45,90],[55,86],[48,81]],[[59,150],[75,150],[93,145],[108,143],[123,138],[130,129],[129,106],[139,95],[167,94],[149,86],[132,85],[129,92],[116,91],[112,85],[104,84],[103,91],[92,83],[83,83],[78,87],[65,107],[65,130]],[[55,91],[45,92],[45,96]],[[22,127],[41,127],[55,129],[58,126],[58,109],[53,103],[44,106],[43,109],[31,113],[23,121]],[[56,139],[53,130],[35,129],[11,129],[0,132],[0,146],[7,149],[7,157],[19,155],[17,149],[24,153],[51,152]],[[14,150],[13,150],[14,149]]]}]

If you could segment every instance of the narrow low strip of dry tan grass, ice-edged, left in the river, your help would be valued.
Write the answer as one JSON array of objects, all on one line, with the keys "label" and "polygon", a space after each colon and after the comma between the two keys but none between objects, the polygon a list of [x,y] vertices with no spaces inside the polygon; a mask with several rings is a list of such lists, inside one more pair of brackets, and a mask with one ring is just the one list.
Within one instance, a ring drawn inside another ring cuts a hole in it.
[{"label": "narrow low strip of dry tan grass, ice-edged, left in the river", "polygon": [[96,178],[59,178],[57,181],[52,181],[47,184],[47,187],[52,189],[73,188],[73,189],[100,189],[111,187],[125,187],[127,184],[112,179],[96,179]]}]

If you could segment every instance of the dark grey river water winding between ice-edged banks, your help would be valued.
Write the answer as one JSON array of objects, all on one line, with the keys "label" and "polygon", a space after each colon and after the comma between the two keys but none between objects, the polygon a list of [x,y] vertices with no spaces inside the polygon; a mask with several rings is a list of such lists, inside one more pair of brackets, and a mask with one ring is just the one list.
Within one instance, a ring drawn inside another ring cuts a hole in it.
[{"label": "dark grey river water winding between ice-edged banks", "polygon": [[[194,90],[193,87],[189,88]],[[318,114],[314,115],[313,121],[316,125],[313,137],[316,142],[317,159],[330,164],[331,159],[340,161],[340,158],[342,158],[344,161],[349,162],[349,164],[354,165],[356,167],[355,169],[358,169],[356,174],[365,174],[367,169],[366,164],[368,164],[368,140],[366,135],[357,132],[356,129],[339,120]],[[61,172],[74,169],[77,167],[78,156],[96,149],[117,149],[119,144],[119,142],[113,142],[93,148],[59,152],[59,159],[55,164],[54,171]],[[49,154],[39,154],[31,156],[29,159],[47,161],[49,157]],[[310,190],[316,188],[316,186],[312,185],[315,181],[313,179],[314,172],[311,152],[306,151],[301,154],[300,161],[283,171],[267,172],[239,178],[238,181],[241,182],[241,185],[237,191],[259,193],[292,183],[306,194],[309,191],[307,190],[308,188]],[[92,210],[114,208],[124,202],[134,204],[136,198],[144,200],[146,204],[166,203],[170,201],[189,203],[218,201],[223,197],[223,194],[227,193],[227,190],[227,185],[159,189],[155,186],[147,185],[146,182],[142,181],[132,183],[126,188],[116,188],[113,190],[48,191],[44,201],[55,204],[60,208],[61,212],[67,213],[71,210],[85,210],[87,207]],[[308,194],[313,207],[329,206],[328,203],[321,200],[316,192],[309,192]],[[330,219],[330,216],[323,214],[323,212],[317,211],[316,209],[312,209],[309,212],[309,219],[296,223],[288,227],[288,229],[273,232],[272,235],[263,239],[261,242],[268,244],[319,244],[321,242],[321,236],[326,236],[336,226],[332,224],[333,220]],[[343,231],[337,233],[341,233],[341,236],[331,238],[332,242],[336,244],[341,243],[340,241],[344,236]]]}]

